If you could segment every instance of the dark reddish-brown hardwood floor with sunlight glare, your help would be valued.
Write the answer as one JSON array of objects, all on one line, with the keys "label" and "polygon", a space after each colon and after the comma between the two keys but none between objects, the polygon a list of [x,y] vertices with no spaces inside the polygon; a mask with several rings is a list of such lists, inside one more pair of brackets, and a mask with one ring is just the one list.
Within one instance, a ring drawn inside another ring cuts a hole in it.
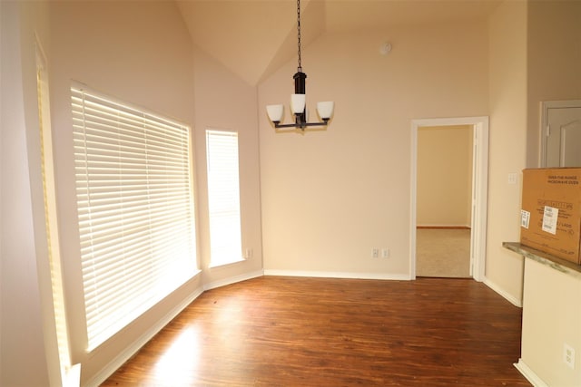
[{"label": "dark reddish-brown hardwood floor with sunlight glare", "polygon": [[471,279],[265,276],[205,292],[103,386],[530,386],[520,330]]}]

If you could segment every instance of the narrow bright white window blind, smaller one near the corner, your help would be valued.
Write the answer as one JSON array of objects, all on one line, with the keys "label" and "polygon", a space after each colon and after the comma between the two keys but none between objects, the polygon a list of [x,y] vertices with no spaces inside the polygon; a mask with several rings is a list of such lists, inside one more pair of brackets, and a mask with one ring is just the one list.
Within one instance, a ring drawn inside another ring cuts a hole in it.
[{"label": "narrow bright white window blind, smaller one near the corner", "polygon": [[242,260],[238,133],[206,131],[211,266]]}]

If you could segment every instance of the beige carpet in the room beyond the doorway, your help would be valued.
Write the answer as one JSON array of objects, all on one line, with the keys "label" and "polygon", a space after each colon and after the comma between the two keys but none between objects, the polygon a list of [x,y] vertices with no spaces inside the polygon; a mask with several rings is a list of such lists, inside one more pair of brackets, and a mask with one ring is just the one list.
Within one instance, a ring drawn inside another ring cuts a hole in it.
[{"label": "beige carpet in the room beyond the doorway", "polygon": [[418,229],[416,276],[466,278],[469,266],[469,229]]}]

